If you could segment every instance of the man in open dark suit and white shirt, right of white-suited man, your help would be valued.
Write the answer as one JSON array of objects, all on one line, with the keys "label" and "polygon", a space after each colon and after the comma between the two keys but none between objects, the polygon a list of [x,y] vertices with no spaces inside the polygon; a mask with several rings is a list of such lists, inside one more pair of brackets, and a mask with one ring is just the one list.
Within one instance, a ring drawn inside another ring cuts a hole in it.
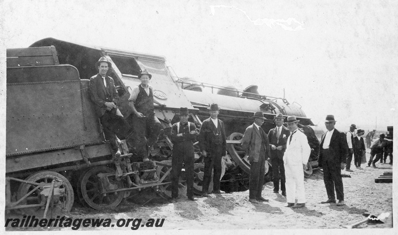
[{"label": "man in open dark suit and white shirt, right of white-suited man", "polygon": [[341,170],[345,167],[348,145],[346,135],[334,128],[336,120],[333,115],[327,115],[325,125],[327,131],[322,134],[319,148],[318,166],[323,167],[323,181],[326,187],[327,201],[336,203],[334,190],[336,189],[337,206],[344,205],[343,180]]}]

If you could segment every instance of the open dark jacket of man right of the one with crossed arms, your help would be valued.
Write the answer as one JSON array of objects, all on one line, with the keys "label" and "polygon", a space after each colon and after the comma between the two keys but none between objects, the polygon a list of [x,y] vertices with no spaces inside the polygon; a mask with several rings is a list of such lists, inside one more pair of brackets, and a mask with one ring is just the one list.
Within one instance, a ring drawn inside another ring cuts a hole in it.
[{"label": "open dark jacket of man right of the one with crossed arms", "polygon": [[[218,137],[214,135],[214,132],[218,132],[218,131],[217,131],[217,128],[215,128],[213,121],[210,120],[210,118],[211,117],[205,119],[202,122],[202,125],[200,126],[200,131],[199,131],[200,151],[205,150],[206,152],[209,152],[209,151],[211,152],[212,148],[219,146],[219,145],[215,144],[217,142],[216,138],[218,138]],[[218,118],[217,118],[217,120],[218,120],[218,126],[221,129],[221,144],[220,144],[220,146],[222,147],[222,156],[224,156],[226,147],[227,147],[224,122]]]}]

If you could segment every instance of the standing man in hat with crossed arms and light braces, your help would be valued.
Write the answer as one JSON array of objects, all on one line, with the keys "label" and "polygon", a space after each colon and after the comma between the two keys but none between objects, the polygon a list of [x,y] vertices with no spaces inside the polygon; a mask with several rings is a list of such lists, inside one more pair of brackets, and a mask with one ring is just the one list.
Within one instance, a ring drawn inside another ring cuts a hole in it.
[{"label": "standing man in hat with crossed arms and light braces", "polygon": [[196,141],[195,123],[189,122],[188,108],[180,108],[180,121],[171,127],[171,140],[173,142],[172,170],[171,170],[171,197],[178,198],[178,182],[183,164],[187,177],[187,196],[191,201],[194,198],[194,142]]}]

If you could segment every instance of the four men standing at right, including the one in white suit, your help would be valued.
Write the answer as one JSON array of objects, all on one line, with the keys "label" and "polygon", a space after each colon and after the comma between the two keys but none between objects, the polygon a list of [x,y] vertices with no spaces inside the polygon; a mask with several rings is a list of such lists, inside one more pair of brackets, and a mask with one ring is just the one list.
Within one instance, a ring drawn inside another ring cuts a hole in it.
[{"label": "four men standing at right, including the one in white suit", "polygon": [[[288,130],[283,126],[283,115],[279,114],[274,117],[276,127],[271,129],[267,136],[261,128],[265,119],[263,113],[256,112],[253,118],[254,123],[246,128],[242,138],[242,147],[250,161],[249,201],[255,204],[258,204],[259,200],[268,201],[261,196],[261,192],[264,161],[270,156],[274,171],[274,193],[279,193],[281,174],[281,190],[282,194],[286,195],[287,207],[293,209],[304,207],[303,170],[306,169],[311,148],[306,135],[298,129],[299,120],[295,116],[288,117]],[[328,196],[328,199],[321,203],[336,203],[336,191],[338,199],[336,205],[343,206],[345,203],[341,170],[345,167],[348,149],[345,134],[334,128],[335,123],[333,115],[326,116],[327,131],[322,134],[320,142],[318,164],[323,168]],[[297,204],[295,204],[296,197]]]}]

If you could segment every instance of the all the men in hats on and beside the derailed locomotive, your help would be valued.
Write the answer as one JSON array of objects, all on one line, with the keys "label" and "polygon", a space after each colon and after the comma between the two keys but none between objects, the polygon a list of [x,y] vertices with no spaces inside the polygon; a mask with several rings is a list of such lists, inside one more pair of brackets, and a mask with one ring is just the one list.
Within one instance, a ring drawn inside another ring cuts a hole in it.
[{"label": "all the men in hats on and beside the derailed locomotive", "polygon": [[[125,136],[123,131],[129,130],[129,123],[124,120],[117,107],[119,97],[114,81],[107,76],[111,63],[105,57],[101,57],[96,63],[96,67],[99,73],[90,79],[90,97],[95,104],[96,114],[100,118],[105,138],[110,142],[112,155],[117,157],[121,153],[118,149],[116,135],[120,133]],[[160,121],[154,113],[154,103],[162,107],[166,105],[153,98],[153,90],[148,85],[152,78],[151,74],[144,70],[138,75],[138,78],[141,84],[133,88],[128,100],[133,112],[131,125],[134,137],[132,143],[127,142],[127,144],[129,148],[141,155],[145,162],[149,161],[149,151],[151,146],[156,143],[161,130]],[[223,193],[220,190],[221,158],[226,154],[224,123],[217,118],[218,105],[212,104],[208,110],[210,117],[202,122],[199,131],[199,147],[201,156],[204,157],[203,197],[208,196],[212,171],[213,193]],[[171,131],[173,142],[172,200],[174,201],[178,198],[178,181],[183,164],[187,176],[188,199],[196,201],[193,195],[193,184],[194,143],[197,134],[195,123],[188,121],[189,115],[188,108],[180,108],[180,121],[173,124]],[[242,138],[242,147],[250,161],[249,201],[255,204],[258,204],[259,201],[268,202],[262,197],[261,192],[264,184],[265,161],[270,157],[273,165],[274,193],[279,193],[279,179],[281,178],[281,191],[282,195],[287,197],[288,207],[304,207],[303,169],[306,169],[311,149],[305,134],[298,130],[299,120],[295,116],[288,117],[288,129],[283,126],[283,115],[278,114],[274,118],[276,127],[271,129],[267,135],[261,128],[266,119],[263,113],[256,112],[252,118],[254,122],[246,128]],[[339,200],[337,206],[342,206],[344,205],[344,192],[341,170],[346,167],[346,171],[352,171],[350,163],[353,155],[355,166],[360,168],[365,151],[364,139],[361,137],[364,131],[359,129],[355,135],[356,126],[352,124],[350,131],[344,134],[334,128],[335,123],[333,115],[326,116],[327,131],[322,134],[320,142],[318,165],[323,168],[324,184],[328,196],[328,200],[321,203],[336,203],[334,194],[336,191]],[[149,136],[148,140],[146,135]],[[369,133],[368,135],[366,136],[367,144],[368,138],[373,137]],[[370,146],[372,152],[368,166],[372,163],[376,167],[375,162],[382,158],[378,153],[387,143],[384,137],[384,134],[381,134],[380,138]],[[373,161],[375,154],[378,155]],[[296,196],[298,198],[297,205],[295,205]]]}]

